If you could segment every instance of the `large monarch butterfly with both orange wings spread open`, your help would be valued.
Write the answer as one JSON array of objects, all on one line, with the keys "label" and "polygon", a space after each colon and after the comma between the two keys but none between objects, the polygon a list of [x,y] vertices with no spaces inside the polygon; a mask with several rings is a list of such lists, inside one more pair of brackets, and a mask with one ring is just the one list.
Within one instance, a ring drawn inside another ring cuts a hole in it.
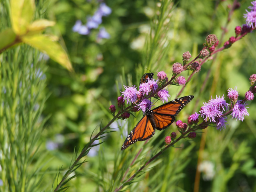
[{"label": "large monarch butterfly with both orange wings spread open", "polygon": [[164,130],[170,126],[175,116],[188,104],[194,96],[185,96],[175,100],[172,100],[166,104],[163,104],[153,110],[146,108],[146,114],[128,134],[121,150],[128,148],[131,144],[137,141],[144,141],[152,137],[155,134],[155,130]]}]

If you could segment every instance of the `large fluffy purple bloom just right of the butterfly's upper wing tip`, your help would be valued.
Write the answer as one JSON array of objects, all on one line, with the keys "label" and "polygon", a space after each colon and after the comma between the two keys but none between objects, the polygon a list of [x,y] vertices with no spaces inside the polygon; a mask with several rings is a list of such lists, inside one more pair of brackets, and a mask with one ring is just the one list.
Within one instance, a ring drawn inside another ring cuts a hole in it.
[{"label": "large fluffy purple bloom just right of the butterfly's upper wing tip", "polygon": [[199,112],[205,121],[209,118],[211,122],[216,122],[215,118],[220,118],[227,109],[228,103],[224,100],[224,96],[221,98],[216,96],[216,99],[210,99],[208,103],[204,103]]}]

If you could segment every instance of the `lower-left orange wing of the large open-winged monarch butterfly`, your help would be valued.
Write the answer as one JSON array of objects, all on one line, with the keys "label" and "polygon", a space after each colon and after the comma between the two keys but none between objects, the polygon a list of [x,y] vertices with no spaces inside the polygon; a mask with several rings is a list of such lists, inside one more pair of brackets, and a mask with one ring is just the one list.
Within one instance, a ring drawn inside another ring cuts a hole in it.
[{"label": "lower-left orange wing of the large open-winged monarch butterfly", "polygon": [[137,141],[144,141],[152,137],[155,134],[155,126],[149,120],[148,116],[144,116],[140,122],[133,128],[133,130],[128,134],[121,150],[128,148],[131,144]]}]

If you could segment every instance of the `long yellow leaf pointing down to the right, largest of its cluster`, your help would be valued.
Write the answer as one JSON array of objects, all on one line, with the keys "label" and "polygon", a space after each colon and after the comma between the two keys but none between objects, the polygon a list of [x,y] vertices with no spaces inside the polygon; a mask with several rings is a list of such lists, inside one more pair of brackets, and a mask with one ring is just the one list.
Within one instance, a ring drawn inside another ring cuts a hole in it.
[{"label": "long yellow leaf pointing down to the right, largest of its cluster", "polygon": [[58,62],[68,70],[73,70],[68,54],[58,42],[52,41],[49,36],[42,34],[22,36],[22,41],[34,48],[37,48],[41,52],[48,54],[52,60]]}]

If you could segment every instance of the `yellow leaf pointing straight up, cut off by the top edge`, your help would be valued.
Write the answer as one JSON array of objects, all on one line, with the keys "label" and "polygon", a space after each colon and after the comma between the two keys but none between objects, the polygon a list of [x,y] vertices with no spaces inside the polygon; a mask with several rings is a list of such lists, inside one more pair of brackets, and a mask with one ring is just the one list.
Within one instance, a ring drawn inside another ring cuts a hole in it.
[{"label": "yellow leaf pointing straight up, cut off by the top edge", "polygon": [[35,10],[34,0],[11,0],[12,28],[17,35],[27,32]]}]

